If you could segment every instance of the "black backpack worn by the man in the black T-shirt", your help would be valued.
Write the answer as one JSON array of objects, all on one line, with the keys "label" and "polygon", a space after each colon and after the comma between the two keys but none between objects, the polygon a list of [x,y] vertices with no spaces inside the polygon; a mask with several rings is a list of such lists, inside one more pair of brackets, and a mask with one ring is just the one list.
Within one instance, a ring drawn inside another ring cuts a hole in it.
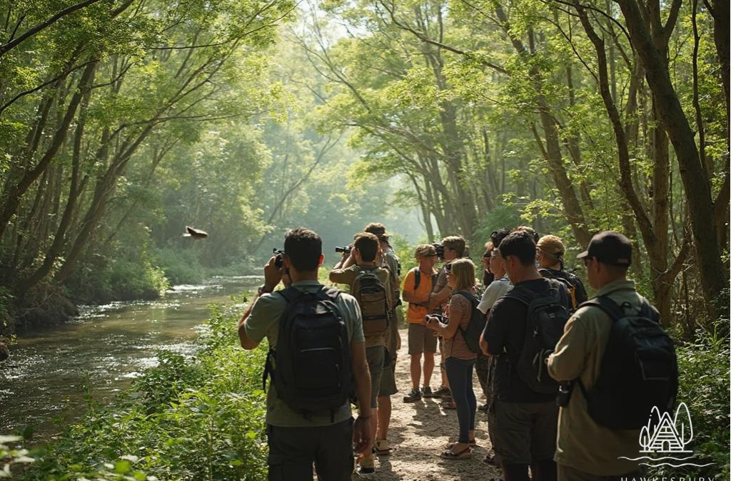
[{"label": "black backpack worn by the man in the black T-shirt", "polygon": [[561,282],[547,279],[548,293],[537,296],[533,290],[515,285],[504,297],[526,304],[526,336],[520,350],[516,372],[536,393],[558,393],[558,382],[548,374],[548,355],[564,335],[564,326],[571,317],[571,299]]}]

